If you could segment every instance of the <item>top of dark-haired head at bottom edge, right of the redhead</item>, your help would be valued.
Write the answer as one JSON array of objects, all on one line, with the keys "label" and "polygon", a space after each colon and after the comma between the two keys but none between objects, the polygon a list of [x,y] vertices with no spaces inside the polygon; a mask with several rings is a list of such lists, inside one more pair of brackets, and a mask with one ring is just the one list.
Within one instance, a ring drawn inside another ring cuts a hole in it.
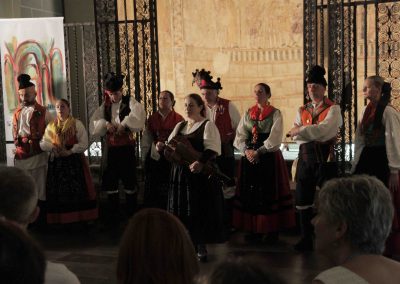
[{"label": "top of dark-haired head at bottom edge, right of the redhead", "polygon": [[204,284],[283,284],[258,259],[237,258],[221,262],[217,265]]}]

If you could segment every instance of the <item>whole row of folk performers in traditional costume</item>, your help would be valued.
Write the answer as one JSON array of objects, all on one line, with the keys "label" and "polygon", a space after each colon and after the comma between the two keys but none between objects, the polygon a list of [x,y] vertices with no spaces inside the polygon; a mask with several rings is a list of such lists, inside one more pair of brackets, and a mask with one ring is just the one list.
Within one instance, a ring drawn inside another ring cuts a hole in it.
[{"label": "whole row of folk performers in traditional costume", "polygon": [[[301,239],[298,251],[313,250],[314,196],[332,175],[334,145],[342,126],[341,109],[326,96],[325,69],[307,74],[310,101],[298,109],[286,134],[299,145],[295,208]],[[193,83],[201,95],[184,99],[185,118],[174,110],[174,94],[158,96],[158,110],[146,120],[142,104],[122,92],[124,76],[104,77],[104,99],[90,121],[92,135],[104,137],[101,189],[110,206],[108,222],[118,223],[120,192],[126,212],[137,209],[136,133],[143,131],[144,206],[176,215],[186,226],[198,258],[207,260],[208,243],[224,242],[231,228],[248,232],[248,242],[278,240],[282,230],[295,226],[289,175],[280,146],[283,116],[269,102],[265,83],[254,86],[255,103],[242,117],[236,106],[221,98],[220,79],[196,70]],[[15,166],[34,176],[39,191],[42,223],[92,221],[98,217],[97,197],[83,152],[88,137],[82,122],[72,117],[70,103],[56,103],[56,118],[36,100],[27,74],[18,76],[20,105],[14,113]],[[390,84],[379,76],[365,80],[368,104],[358,123],[353,173],[381,179],[392,193],[396,216],[387,243],[400,252],[400,115],[390,105]],[[241,154],[236,162],[234,149]],[[373,161],[373,162],[372,162]],[[120,185],[120,182],[122,186]]]}]

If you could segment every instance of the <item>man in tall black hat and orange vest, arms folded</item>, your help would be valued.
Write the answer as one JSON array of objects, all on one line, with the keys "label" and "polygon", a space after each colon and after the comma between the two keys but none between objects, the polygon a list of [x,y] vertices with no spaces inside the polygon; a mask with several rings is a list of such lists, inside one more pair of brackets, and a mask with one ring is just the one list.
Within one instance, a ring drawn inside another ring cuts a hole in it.
[{"label": "man in tall black hat and orange vest, arms folded", "polygon": [[300,145],[296,169],[296,209],[302,238],[294,248],[302,252],[313,250],[311,219],[315,190],[328,178],[324,166],[334,159],[333,146],[343,123],[339,105],[325,97],[325,69],[315,65],[307,75],[311,101],[300,107],[294,127],[288,133]]}]

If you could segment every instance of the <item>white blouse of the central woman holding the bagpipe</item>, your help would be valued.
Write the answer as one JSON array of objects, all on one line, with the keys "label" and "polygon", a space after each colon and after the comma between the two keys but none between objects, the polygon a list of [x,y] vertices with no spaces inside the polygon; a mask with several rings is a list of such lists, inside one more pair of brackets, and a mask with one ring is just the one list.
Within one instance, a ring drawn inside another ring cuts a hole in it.
[{"label": "white blouse of the central woman holding the bagpipe", "polygon": [[[182,134],[190,134],[195,132],[203,123],[205,119],[198,121],[193,124],[193,126],[189,129],[188,124],[186,124],[185,127],[181,130]],[[184,123],[184,121],[179,122],[174,130],[172,131],[171,135],[168,137],[168,141],[171,141],[172,138],[174,138],[178,134],[178,130],[181,127],[181,124]],[[204,127],[204,133],[203,133],[203,140],[204,140],[204,150],[212,150],[217,153],[217,155],[221,155],[221,138],[219,135],[219,131],[217,126],[215,125],[214,122],[208,121],[206,122],[206,125]]]}]

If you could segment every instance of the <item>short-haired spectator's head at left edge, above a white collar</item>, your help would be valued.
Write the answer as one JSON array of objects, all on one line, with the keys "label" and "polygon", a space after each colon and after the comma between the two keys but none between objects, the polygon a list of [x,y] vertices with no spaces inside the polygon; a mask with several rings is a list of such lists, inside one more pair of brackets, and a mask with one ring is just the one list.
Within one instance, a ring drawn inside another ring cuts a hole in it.
[{"label": "short-haired spectator's head at left edge, above a white collar", "polygon": [[19,168],[0,166],[0,215],[27,226],[39,213],[37,200],[31,175]]}]

